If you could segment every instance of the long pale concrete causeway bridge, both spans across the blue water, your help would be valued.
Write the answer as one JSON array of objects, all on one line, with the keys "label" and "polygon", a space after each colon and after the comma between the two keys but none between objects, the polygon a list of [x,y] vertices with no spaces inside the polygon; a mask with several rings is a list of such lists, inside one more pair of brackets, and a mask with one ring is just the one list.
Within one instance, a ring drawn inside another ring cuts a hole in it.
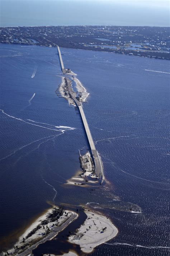
[{"label": "long pale concrete causeway bridge, both spans across the blue water", "polygon": [[[58,55],[59,55],[60,63],[61,63],[61,70],[62,70],[62,72],[64,71],[66,73],[64,65],[63,65],[62,57],[61,57],[60,47],[57,46],[57,49],[58,49]],[[63,72],[63,74],[65,74],[64,72]],[[76,95],[75,95],[74,91],[72,90],[72,87],[69,88],[69,94],[70,94],[70,97],[74,100],[74,102],[77,105],[77,107],[79,108],[81,119],[82,119],[82,122],[83,122],[83,125],[84,125],[84,128],[85,128],[85,131],[86,131],[86,135],[87,135],[87,138],[88,138],[88,141],[89,141],[92,157],[93,157],[93,160],[94,160],[95,174],[96,174],[96,176],[101,178],[101,183],[102,183],[103,180],[104,180],[103,163],[101,161],[101,158],[99,156],[98,151],[96,150],[93,138],[91,136],[91,132],[90,132],[90,129],[89,129],[88,122],[86,120],[86,116],[85,116],[84,110],[82,108],[82,104],[76,98]]]}]

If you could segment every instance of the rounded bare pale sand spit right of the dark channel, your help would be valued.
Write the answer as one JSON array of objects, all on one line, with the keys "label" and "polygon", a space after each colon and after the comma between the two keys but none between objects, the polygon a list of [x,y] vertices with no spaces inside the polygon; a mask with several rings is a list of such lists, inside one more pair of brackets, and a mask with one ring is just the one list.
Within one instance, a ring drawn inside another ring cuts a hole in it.
[{"label": "rounded bare pale sand spit right of the dark channel", "polygon": [[88,218],[69,242],[79,244],[81,250],[90,253],[99,244],[105,243],[118,234],[118,229],[105,216],[85,210]]}]

